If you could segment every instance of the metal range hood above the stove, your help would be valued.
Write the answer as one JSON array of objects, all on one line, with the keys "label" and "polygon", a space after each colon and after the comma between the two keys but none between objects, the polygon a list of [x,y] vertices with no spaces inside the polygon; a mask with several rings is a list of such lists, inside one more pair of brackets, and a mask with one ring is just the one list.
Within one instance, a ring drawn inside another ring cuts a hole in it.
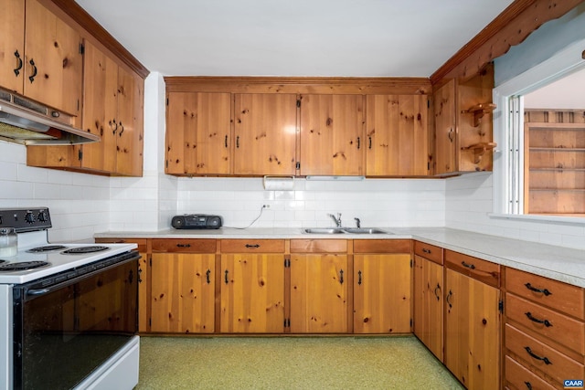
[{"label": "metal range hood above the stove", "polygon": [[73,145],[100,137],[65,123],[67,115],[0,90],[0,140],[25,145]]}]

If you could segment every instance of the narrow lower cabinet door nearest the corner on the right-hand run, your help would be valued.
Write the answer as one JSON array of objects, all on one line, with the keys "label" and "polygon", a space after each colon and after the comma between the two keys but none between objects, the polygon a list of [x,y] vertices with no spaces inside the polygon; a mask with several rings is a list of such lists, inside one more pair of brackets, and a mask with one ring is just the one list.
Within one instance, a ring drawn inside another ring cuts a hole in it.
[{"label": "narrow lower cabinet door nearest the corner on the right-hand run", "polygon": [[414,334],[442,362],[443,281],[442,266],[426,258],[414,258]]}]

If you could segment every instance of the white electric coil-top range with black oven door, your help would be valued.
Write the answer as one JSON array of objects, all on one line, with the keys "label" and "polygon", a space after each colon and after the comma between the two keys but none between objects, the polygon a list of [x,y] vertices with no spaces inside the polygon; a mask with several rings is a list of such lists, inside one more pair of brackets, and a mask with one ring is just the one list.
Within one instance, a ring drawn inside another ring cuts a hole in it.
[{"label": "white electric coil-top range with black oven door", "polygon": [[132,389],[138,383],[135,244],[48,243],[46,207],[0,209],[0,389]]}]

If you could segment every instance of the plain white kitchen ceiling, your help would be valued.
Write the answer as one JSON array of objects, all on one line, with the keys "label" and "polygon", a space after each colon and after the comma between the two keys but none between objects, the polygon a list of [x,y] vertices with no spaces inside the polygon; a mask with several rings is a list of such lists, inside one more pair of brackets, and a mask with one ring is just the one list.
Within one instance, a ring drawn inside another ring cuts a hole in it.
[{"label": "plain white kitchen ceiling", "polygon": [[430,77],[511,0],[76,0],[165,76]]}]

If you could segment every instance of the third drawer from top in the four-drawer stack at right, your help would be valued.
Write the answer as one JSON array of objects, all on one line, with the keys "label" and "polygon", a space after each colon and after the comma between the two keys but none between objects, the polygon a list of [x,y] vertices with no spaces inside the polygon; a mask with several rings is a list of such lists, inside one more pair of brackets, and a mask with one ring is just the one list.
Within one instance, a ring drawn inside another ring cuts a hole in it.
[{"label": "third drawer from top in the four-drawer stack at right", "polygon": [[505,324],[505,347],[516,353],[520,360],[555,378],[559,384],[562,384],[565,379],[583,377],[583,364],[507,323]]}]

